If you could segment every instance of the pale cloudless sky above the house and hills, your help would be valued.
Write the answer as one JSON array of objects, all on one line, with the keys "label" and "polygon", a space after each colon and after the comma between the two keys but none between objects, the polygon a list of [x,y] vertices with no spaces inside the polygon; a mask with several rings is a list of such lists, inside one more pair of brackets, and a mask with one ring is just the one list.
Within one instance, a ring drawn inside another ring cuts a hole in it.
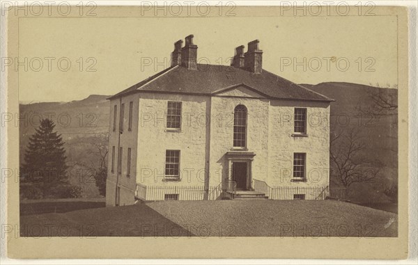
[{"label": "pale cloudless sky above the house and hills", "polygon": [[398,83],[396,16],[23,17],[20,102],[114,95],[169,67],[189,34],[201,63],[229,65],[235,47],[257,39],[263,69],[295,83]]}]

